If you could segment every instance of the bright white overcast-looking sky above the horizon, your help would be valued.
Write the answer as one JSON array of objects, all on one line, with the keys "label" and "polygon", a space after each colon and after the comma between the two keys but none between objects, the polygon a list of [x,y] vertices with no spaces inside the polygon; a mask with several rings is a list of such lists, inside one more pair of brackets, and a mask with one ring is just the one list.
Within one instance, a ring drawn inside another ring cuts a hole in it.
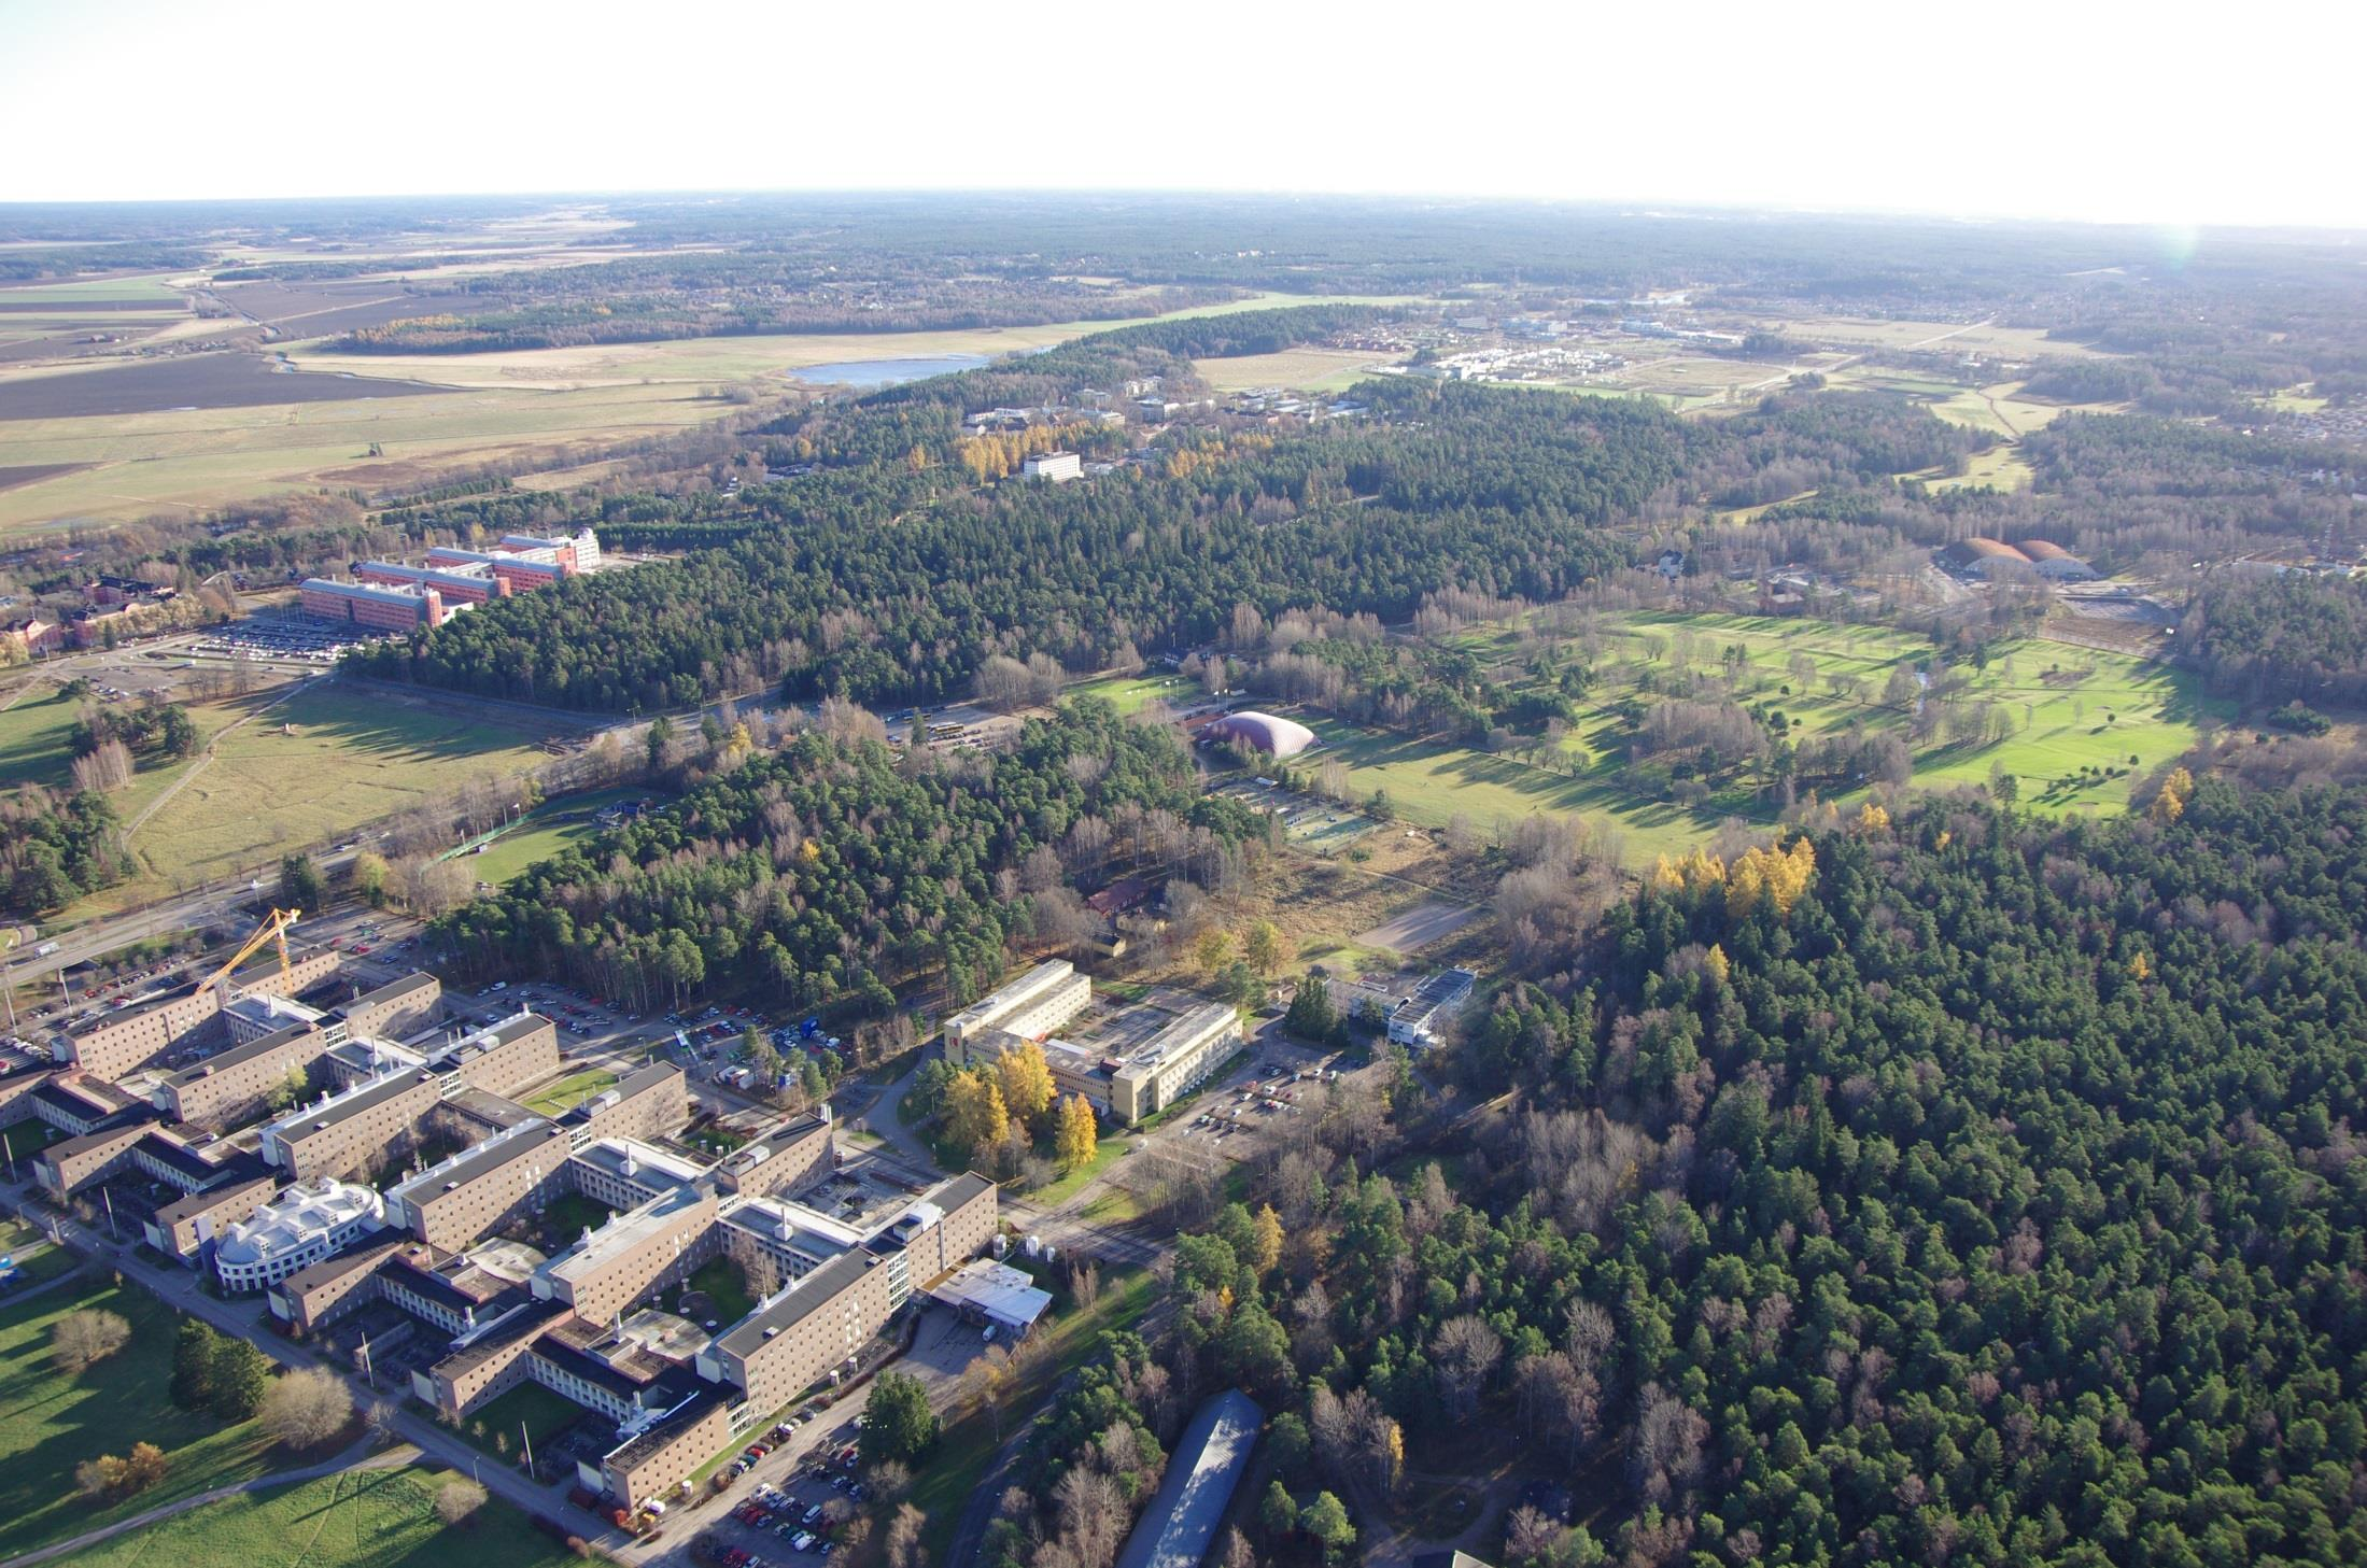
[{"label": "bright white overcast-looking sky above the horizon", "polygon": [[2367,229],[2367,7],[0,0],[0,201],[1276,189]]}]

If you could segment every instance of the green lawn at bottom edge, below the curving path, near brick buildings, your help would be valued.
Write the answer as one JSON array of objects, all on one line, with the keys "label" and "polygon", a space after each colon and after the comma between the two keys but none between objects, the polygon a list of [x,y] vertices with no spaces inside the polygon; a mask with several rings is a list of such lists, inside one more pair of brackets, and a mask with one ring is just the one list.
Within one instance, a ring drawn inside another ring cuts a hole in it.
[{"label": "green lawn at bottom edge, below the curving path, near brick buildings", "polygon": [[518,1509],[488,1499],[436,1518],[450,1471],[346,1471],[225,1497],[76,1554],[83,1568],[559,1568],[575,1559]]}]

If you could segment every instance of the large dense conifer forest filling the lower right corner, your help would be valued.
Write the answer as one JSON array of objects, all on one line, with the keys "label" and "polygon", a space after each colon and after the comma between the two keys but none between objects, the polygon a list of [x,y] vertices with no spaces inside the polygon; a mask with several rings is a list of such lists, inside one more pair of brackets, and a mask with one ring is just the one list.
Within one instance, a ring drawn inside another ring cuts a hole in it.
[{"label": "large dense conifer forest filling the lower right corner", "polygon": [[1517,1440],[1598,1511],[1513,1561],[2360,1561],[2362,934],[2367,790],[1669,868],[1472,1029],[1515,1100],[1444,1159],[1335,1102],[1271,1268],[1186,1242],[1174,1374],[1366,1492]]}]

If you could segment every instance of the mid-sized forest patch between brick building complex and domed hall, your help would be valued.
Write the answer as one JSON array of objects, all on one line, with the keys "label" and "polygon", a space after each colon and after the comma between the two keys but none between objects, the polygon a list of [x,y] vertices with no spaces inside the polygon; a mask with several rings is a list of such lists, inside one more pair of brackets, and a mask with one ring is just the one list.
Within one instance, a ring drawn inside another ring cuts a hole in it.
[{"label": "mid-sized forest patch between brick building complex and domed hall", "polygon": [[1068,875],[1214,882],[1252,835],[1245,806],[1198,795],[1174,736],[1108,702],[1068,702],[994,757],[817,728],[779,752],[727,736],[701,769],[672,806],[533,866],[433,941],[471,977],[566,974],[637,1007],[720,991],[885,1012],[907,981],[992,986],[1030,899]]}]

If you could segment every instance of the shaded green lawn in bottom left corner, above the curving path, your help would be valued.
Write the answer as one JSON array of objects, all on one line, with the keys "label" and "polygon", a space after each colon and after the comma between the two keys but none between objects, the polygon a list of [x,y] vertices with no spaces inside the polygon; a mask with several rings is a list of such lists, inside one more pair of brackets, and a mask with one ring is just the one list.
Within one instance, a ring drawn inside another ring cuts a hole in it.
[{"label": "shaded green lawn in bottom left corner, above the curving path", "polygon": [[[66,1376],[50,1365],[50,1327],[76,1308],[118,1313],[133,1336],[116,1355]],[[222,1426],[163,1398],[173,1381],[175,1324],[178,1315],[154,1296],[104,1282],[0,1308],[0,1556],[279,1466],[253,1421]],[[76,1495],[76,1464],[142,1440],[166,1450],[168,1471],[159,1485],[121,1502]]]}]

